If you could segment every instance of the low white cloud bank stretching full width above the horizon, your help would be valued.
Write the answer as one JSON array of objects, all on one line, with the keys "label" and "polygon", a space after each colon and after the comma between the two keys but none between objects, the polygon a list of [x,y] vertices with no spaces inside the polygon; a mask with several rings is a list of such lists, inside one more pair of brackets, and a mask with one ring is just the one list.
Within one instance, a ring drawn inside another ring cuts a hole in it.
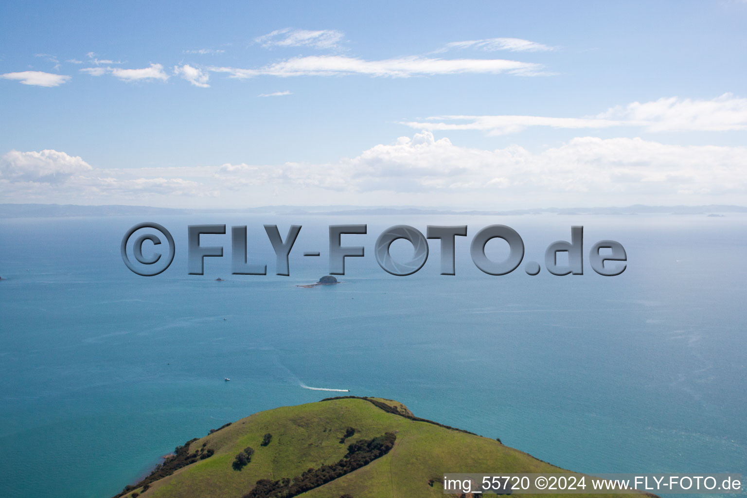
[{"label": "low white cloud bank stretching full width above the horizon", "polygon": [[538,151],[518,145],[487,150],[422,131],[323,164],[92,169],[64,152],[11,151],[0,157],[0,193],[25,202],[137,198],[161,205],[169,205],[172,196],[220,196],[234,205],[246,205],[247,199],[255,204],[329,203],[330,196],[339,204],[465,208],[743,204],[744,164],[747,147],[576,137]]}]

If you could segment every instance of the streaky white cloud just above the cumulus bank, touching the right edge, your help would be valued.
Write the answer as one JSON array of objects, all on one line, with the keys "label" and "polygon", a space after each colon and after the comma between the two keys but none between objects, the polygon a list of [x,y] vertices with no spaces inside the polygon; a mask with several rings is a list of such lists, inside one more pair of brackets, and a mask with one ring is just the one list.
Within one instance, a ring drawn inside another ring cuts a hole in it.
[{"label": "streaky white cloud just above the cumulus bank, touching the right edge", "polygon": [[431,116],[401,124],[420,130],[476,130],[491,135],[515,133],[533,126],[569,129],[634,126],[652,132],[732,131],[747,129],[747,99],[736,98],[731,93],[711,100],[669,97],[617,106],[591,117]]}]

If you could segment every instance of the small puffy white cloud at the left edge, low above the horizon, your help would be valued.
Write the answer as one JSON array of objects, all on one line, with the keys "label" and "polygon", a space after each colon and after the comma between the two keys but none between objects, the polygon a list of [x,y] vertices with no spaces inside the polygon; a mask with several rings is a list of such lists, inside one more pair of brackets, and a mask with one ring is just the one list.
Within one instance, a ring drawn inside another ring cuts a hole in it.
[{"label": "small puffy white cloud at the left edge, low above the horizon", "polygon": [[80,157],[51,149],[41,152],[12,150],[0,156],[0,178],[8,181],[59,183],[91,169]]}]

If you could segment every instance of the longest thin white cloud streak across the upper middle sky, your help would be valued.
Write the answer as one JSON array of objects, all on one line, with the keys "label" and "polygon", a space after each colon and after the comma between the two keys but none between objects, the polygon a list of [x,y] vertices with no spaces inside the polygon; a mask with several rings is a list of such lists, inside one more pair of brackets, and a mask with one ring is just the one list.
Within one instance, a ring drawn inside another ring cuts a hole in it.
[{"label": "longest thin white cloud streak across the upper middle sky", "polygon": [[429,57],[398,57],[385,60],[363,60],[341,55],[294,57],[259,69],[211,67],[213,72],[228,72],[232,78],[255,76],[333,76],[369,75],[407,78],[420,75],[450,75],[459,73],[512,75],[543,75],[542,66],[536,63],[504,59],[438,59]]}]

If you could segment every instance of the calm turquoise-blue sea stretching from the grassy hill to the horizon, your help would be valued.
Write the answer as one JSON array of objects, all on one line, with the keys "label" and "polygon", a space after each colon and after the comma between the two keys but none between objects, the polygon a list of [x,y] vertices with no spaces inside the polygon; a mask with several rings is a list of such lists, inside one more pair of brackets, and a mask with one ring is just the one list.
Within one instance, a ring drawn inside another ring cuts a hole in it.
[{"label": "calm turquoise-blue sea stretching from the grassy hill to the horizon", "polygon": [[[747,217],[158,217],[177,251],[152,278],[119,254],[142,221],[0,220],[1,497],[111,496],[209,429],[335,395],[302,383],[398,399],[573,470],[747,473]],[[203,236],[226,257],[188,276],[186,227],[204,222],[248,225],[269,273],[261,225],[303,225],[291,277],[231,276],[229,235]],[[326,274],[326,227],[346,222],[368,223],[343,239],[367,256],[342,284],[295,287]],[[438,275],[437,241],[415,275],[381,270],[373,242],[401,223],[469,225],[457,275]],[[487,276],[468,248],[492,223],[524,237],[524,261],[584,225],[586,250],[618,240],[629,266]]]}]

